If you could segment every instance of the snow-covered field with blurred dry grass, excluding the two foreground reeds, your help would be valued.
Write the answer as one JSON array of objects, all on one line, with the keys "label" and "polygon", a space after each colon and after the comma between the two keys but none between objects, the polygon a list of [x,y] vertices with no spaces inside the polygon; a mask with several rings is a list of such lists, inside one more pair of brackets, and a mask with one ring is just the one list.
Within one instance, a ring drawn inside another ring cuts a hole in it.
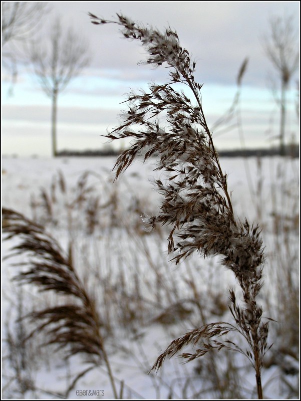
[{"label": "snow-covered field with blurred dry grass, excluding the two foreground reeds", "polygon": [[[180,267],[169,263],[167,232],[147,233],[140,218],[158,208],[159,195],[152,180],[160,173],[153,171],[151,162],[136,162],[113,182],[114,163],[115,157],[3,157],[2,206],[44,225],[64,250],[72,243],[80,274],[98,294],[106,347],[124,398],[235,398],[238,394],[256,398],[253,370],[240,354],[220,351],[205,355],[201,363],[188,364],[172,358],[158,373],[148,374],[160,352],[177,336],[203,321],[231,319],[227,288],[235,286],[235,281],[216,258],[204,260],[195,255]],[[283,262],[293,254],[287,263],[294,280],[299,280],[299,160],[221,158],[220,164],[228,174],[234,212],[262,228],[266,284],[261,297],[268,315],[281,298],[275,284],[275,276],[280,274],[272,274],[281,268],[280,263],[275,264],[279,258]],[[16,243],[16,239],[4,241],[3,256]],[[89,364],[84,356],[65,361],[62,351],[54,352],[50,346],[40,349],[43,333],[26,349],[30,359],[26,366],[16,368],[18,356],[12,356],[12,346],[6,341],[8,333],[13,333],[15,342],[11,343],[16,346],[19,339],[20,346],[22,334],[15,323],[20,287],[10,280],[18,271],[11,266],[16,260],[5,260],[2,270],[3,397],[112,398],[105,366],[90,370],[72,386],[76,375]],[[22,296],[24,312],[56,302],[55,296],[44,299],[44,294],[30,286],[25,286]],[[195,304],[194,297],[198,297]],[[182,312],[175,305],[180,305]],[[277,313],[275,310],[271,317],[278,318]],[[271,330],[271,337],[275,332]],[[273,341],[275,338],[270,339]],[[298,365],[294,358],[288,363]],[[280,365],[263,367],[264,397],[296,398],[289,386],[296,386],[298,373],[285,374]],[[24,384],[26,379],[32,389]]]}]

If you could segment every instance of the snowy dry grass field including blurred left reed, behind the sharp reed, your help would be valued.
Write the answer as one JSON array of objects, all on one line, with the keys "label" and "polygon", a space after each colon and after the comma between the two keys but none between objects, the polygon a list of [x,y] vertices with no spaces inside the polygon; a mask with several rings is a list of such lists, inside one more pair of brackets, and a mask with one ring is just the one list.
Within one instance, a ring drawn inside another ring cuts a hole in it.
[{"label": "snowy dry grass field including blurred left reed, behind the sharp reed", "polygon": [[[12,237],[2,243],[3,397],[256,398],[239,353],[167,359],[149,373],[172,339],[233,320],[227,289],[235,277],[218,257],[170,263],[166,227],[144,225],[159,205],[152,181],[160,172],[151,160],[136,162],[113,182],[114,164],[114,157],[3,158],[2,205],[17,212],[3,212],[3,239]],[[299,160],[221,157],[220,164],[235,214],[262,229],[259,301],[276,321],[263,395],[296,399]]]}]

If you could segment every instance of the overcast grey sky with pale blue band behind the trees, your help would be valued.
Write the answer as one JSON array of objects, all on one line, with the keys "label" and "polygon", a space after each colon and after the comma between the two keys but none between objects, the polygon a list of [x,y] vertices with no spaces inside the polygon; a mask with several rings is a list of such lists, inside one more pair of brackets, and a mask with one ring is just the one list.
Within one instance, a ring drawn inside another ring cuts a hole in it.
[{"label": "overcast grey sky with pale blue band behind the trees", "polygon": [[[39,36],[47,41],[48,26],[59,15],[66,27],[74,27],[87,38],[92,55],[90,67],[59,97],[59,150],[100,148],[105,142],[100,135],[118,124],[125,93],[147,89],[149,82],[163,83],[167,77],[164,68],[137,65],[145,57],[141,46],[123,39],[115,25],[92,25],[88,12],[105,19],[122,13],[143,24],[176,30],[182,47],[197,62],[195,77],[204,84],[203,108],[209,126],[231,106],[237,72],[249,57],[240,103],[245,143],[248,147],[270,146],[268,138],[277,135],[278,109],[268,77],[274,74],[275,82],[277,79],[261,38],[269,32],[270,18],[290,15],[299,35],[299,2],[50,2],[50,6]],[[294,111],[298,74],[288,97],[287,136],[298,132]],[[49,156],[50,99],[27,69],[20,69],[13,96],[8,96],[8,88],[3,79],[2,153]],[[217,132],[216,146],[239,148],[240,139],[234,128]]]}]

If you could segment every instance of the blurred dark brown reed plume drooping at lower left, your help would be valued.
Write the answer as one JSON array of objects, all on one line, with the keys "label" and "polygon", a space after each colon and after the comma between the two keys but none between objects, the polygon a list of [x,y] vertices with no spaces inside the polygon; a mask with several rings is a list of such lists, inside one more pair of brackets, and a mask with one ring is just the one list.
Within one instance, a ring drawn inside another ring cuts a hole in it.
[{"label": "blurred dark brown reed plume drooping at lower left", "polygon": [[[69,246],[68,255],[64,255],[57,241],[42,226],[15,211],[3,208],[2,217],[6,240],[13,237],[19,239],[19,245],[12,249],[13,253],[8,257],[22,255],[23,260],[27,260],[15,264],[24,268],[15,280],[21,284],[34,284],[40,291],[54,291],[64,296],[60,305],[33,311],[26,316],[36,323],[28,338],[43,330],[46,333],[45,345],[64,348],[66,358],[78,353],[87,356],[90,367],[73,380],[69,391],[88,370],[105,364],[114,396],[118,398],[96,299],[88,293],[74,268],[72,247]],[[25,255],[29,258],[25,259]]]}]

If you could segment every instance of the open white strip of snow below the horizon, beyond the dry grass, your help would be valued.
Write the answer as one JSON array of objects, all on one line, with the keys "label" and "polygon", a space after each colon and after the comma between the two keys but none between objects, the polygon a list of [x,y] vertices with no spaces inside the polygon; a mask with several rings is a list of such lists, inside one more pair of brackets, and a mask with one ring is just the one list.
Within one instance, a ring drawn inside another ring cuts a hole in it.
[{"label": "open white strip of snow below the horizon, beyond the dry grass", "polygon": [[[39,193],[41,187],[51,185],[54,174],[61,170],[68,185],[72,186],[84,171],[101,174],[107,182],[114,177],[112,168],[115,157],[103,158],[9,158],[2,162],[3,206],[15,208],[21,213],[31,213],[30,200],[33,194]],[[131,165],[124,178],[134,193],[140,198],[150,200],[157,198],[152,191],[151,181],[160,176],[153,172],[153,163],[136,162]],[[236,213],[250,220],[256,217],[254,194],[262,186],[262,198],[259,199],[271,208],[273,186],[279,180],[290,182],[297,180],[299,171],[298,159],[287,159],[285,163],[278,157],[264,157],[260,165],[256,158],[221,158],[221,166],[228,174],[228,187],[232,188],[232,203]],[[114,185],[117,185],[115,183]]]}]

